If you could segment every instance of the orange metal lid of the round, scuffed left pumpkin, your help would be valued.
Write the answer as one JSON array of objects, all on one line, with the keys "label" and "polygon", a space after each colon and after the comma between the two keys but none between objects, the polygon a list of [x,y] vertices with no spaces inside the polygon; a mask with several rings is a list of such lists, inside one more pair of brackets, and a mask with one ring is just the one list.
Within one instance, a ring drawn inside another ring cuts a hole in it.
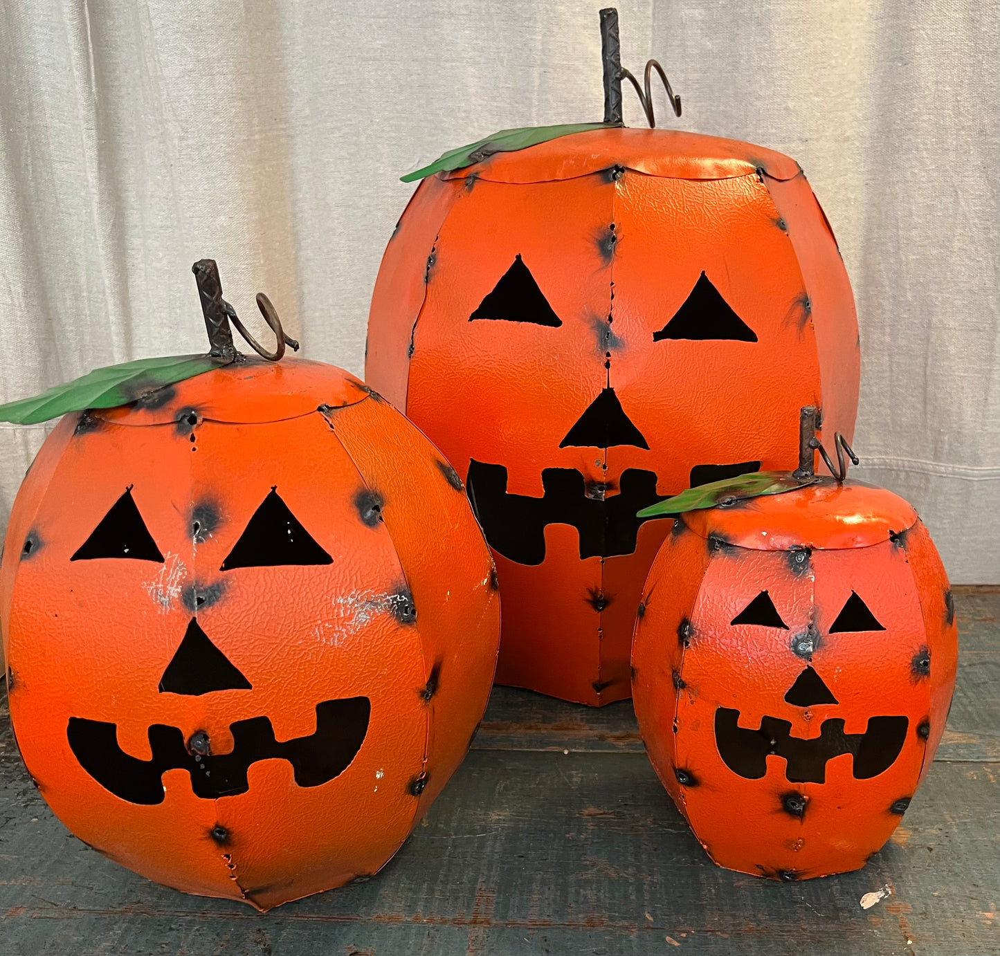
[{"label": "orange metal lid of the round, scuffed left pumpkin", "polygon": [[354,405],[369,389],[350,372],[306,359],[266,362],[248,358],[168,385],[131,405],[92,409],[116,425],[162,425],[185,414],[229,424],[296,418],[321,405]]}]

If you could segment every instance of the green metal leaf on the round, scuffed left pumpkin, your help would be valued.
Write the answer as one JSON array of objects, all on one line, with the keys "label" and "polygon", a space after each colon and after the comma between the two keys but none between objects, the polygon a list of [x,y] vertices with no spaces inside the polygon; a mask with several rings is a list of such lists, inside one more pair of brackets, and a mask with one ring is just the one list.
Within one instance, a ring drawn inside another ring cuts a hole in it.
[{"label": "green metal leaf on the round, scuffed left pumpkin", "polygon": [[224,359],[209,355],[170,355],[95,368],[82,378],[56,385],[34,398],[0,405],[0,421],[33,425],[67,412],[128,405],[165,385],[183,382],[228,364]]}]

